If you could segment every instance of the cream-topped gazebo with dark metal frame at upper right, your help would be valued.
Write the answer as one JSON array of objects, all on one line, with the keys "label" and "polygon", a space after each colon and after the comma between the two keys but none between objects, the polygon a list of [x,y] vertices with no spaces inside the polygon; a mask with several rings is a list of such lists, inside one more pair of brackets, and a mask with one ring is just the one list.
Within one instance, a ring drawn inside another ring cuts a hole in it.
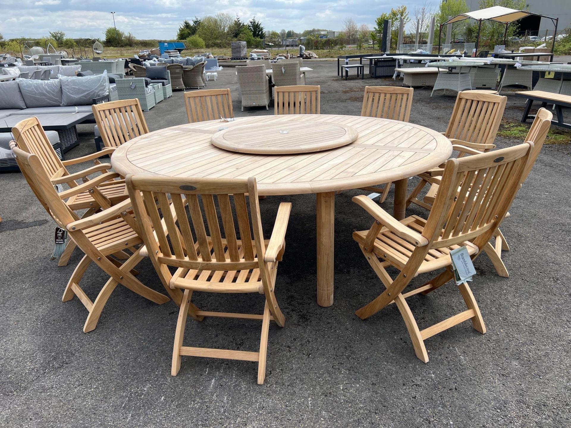
[{"label": "cream-topped gazebo with dark metal frame at upper right", "polygon": [[[476,40],[476,50],[477,50],[478,44],[480,42],[480,29],[482,26],[482,21],[494,21],[504,24],[505,25],[504,44],[505,44],[506,37],[508,35],[508,26],[510,25],[510,23],[517,21],[518,19],[521,18],[529,17],[530,15],[551,19],[551,21],[555,26],[554,34],[557,33],[557,22],[559,21],[559,18],[546,17],[545,15],[532,13],[528,10],[516,10],[516,9],[510,9],[509,7],[493,6],[493,7],[487,7],[486,9],[475,10],[473,12],[461,13],[453,18],[448,19],[448,21],[446,21],[445,23],[441,24],[438,51],[440,53],[440,37],[442,35],[442,27],[444,27],[445,25],[459,21],[464,21],[464,19],[474,19],[475,21],[478,21],[478,37]],[[555,37],[553,37],[553,44],[551,45],[552,53],[554,46],[555,46]]]}]

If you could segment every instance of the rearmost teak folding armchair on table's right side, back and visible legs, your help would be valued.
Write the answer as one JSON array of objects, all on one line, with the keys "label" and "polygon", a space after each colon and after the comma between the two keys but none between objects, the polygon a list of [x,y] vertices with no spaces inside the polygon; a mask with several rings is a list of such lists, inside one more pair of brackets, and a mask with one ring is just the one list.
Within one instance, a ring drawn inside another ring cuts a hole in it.
[{"label": "rearmost teak folding armchair on table's right side, back and visible legs", "polygon": [[[507,100],[506,96],[486,94],[482,91],[458,92],[448,128],[443,135],[451,140],[452,148],[459,152],[459,157],[464,156],[466,147],[468,150],[472,148],[481,152],[487,152],[496,147],[494,140]],[[436,168],[439,175],[443,166]],[[430,209],[437,187],[431,186],[422,201],[417,199],[417,196],[429,183],[431,176],[432,171],[419,174],[419,183],[407,197],[407,207],[413,203]]]}]

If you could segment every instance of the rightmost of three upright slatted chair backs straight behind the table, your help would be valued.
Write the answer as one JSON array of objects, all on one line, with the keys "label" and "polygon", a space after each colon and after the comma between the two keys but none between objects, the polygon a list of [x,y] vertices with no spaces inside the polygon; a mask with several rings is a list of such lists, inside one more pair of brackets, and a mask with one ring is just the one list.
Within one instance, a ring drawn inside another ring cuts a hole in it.
[{"label": "rightmost of three upright slatted chair backs straight behind the table", "polygon": [[413,88],[365,86],[361,116],[408,122],[413,92]]}]

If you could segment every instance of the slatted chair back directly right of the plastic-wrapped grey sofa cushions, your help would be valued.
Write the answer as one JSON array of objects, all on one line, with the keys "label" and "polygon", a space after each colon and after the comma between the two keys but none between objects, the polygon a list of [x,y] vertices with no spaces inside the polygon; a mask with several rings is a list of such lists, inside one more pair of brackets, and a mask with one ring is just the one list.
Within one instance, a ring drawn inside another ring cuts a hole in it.
[{"label": "slatted chair back directly right of the plastic-wrapped grey sofa cushions", "polygon": [[105,147],[119,147],[135,137],[148,134],[138,98],[93,104],[91,110]]}]

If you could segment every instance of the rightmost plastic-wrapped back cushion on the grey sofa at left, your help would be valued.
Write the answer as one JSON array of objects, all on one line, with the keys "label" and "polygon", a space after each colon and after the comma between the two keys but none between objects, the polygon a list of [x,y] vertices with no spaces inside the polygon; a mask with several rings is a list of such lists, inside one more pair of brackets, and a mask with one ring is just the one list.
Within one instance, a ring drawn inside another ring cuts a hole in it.
[{"label": "rightmost plastic-wrapped back cushion on the grey sofa at left", "polygon": [[62,82],[62,106],[85,106],[93,103],[94,98],[107,95],[107,71],[103,74],[86,77],[59,76]]}]

